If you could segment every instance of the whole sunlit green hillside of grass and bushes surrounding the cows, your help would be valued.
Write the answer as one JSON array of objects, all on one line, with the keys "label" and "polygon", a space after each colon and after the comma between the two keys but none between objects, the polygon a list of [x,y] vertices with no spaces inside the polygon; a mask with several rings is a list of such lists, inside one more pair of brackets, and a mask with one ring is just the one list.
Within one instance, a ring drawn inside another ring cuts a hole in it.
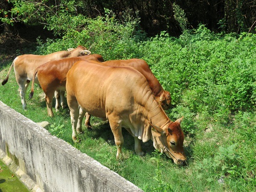
[{"label": "whole sunlit green hillside of grass and bushes surrounding the cows", "polygon": [[[13,71],[9,82],[0,86],[0,100],[35,122],[47,120],[51,123],[47,129],[53,135],[145,191],[255,191],[256,35],[214,33],[204,25],[188,30],[184,12],[177,9],[177,22],[183,29],[179,38],[166,31],[148,38],[137,28],[137,16],[124,14],[120,22],[106,9],[104,16],[94,19],[61,17],[59,26],[54,25],[57,18],[53,17],[49,26],[60,38],[38,38],[37,49],[27,53],[48,54],[82,44],[105,60],[147,61],[172,95],[172,108],[166,111],[170,119],[184,116],[181,126],[186,136],[187,165],[176,166],[165,155],[154,152],[152,142],[143,144],[146,155],[138,157],[134,140],[125,130],[125,159],[116,161],[109,125],[95,117],[93,131],[85,130],[81,142],[73,143],[68,109],[55,113],[54,118],[47,117],[40,89],[28,101],[28,110],[22,110]],[[17,55],[20,52],[17,50]],[[0,63],[1,81],[11,63]]]}]

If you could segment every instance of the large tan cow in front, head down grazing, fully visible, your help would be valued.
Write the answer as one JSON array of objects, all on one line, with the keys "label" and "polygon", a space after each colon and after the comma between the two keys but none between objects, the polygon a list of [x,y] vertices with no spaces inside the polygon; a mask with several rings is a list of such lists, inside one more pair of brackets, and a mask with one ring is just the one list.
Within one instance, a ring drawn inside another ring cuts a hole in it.
[{"label": "large tan cow in front, head down grazing, fully visible", "polygon": [[134,137],[135,152],[143,155],[140,140],[153,141],[154,148],[182,164],[183,119],[172,122],[155,99],[146,78],[133,67],[111,67],[96,61],[76,62],[67,73],[67,104],[70,108],[72,138],[81,133],[85,112],[109,121],[117,146],[116,158],[122,154],[122,127]]}]

